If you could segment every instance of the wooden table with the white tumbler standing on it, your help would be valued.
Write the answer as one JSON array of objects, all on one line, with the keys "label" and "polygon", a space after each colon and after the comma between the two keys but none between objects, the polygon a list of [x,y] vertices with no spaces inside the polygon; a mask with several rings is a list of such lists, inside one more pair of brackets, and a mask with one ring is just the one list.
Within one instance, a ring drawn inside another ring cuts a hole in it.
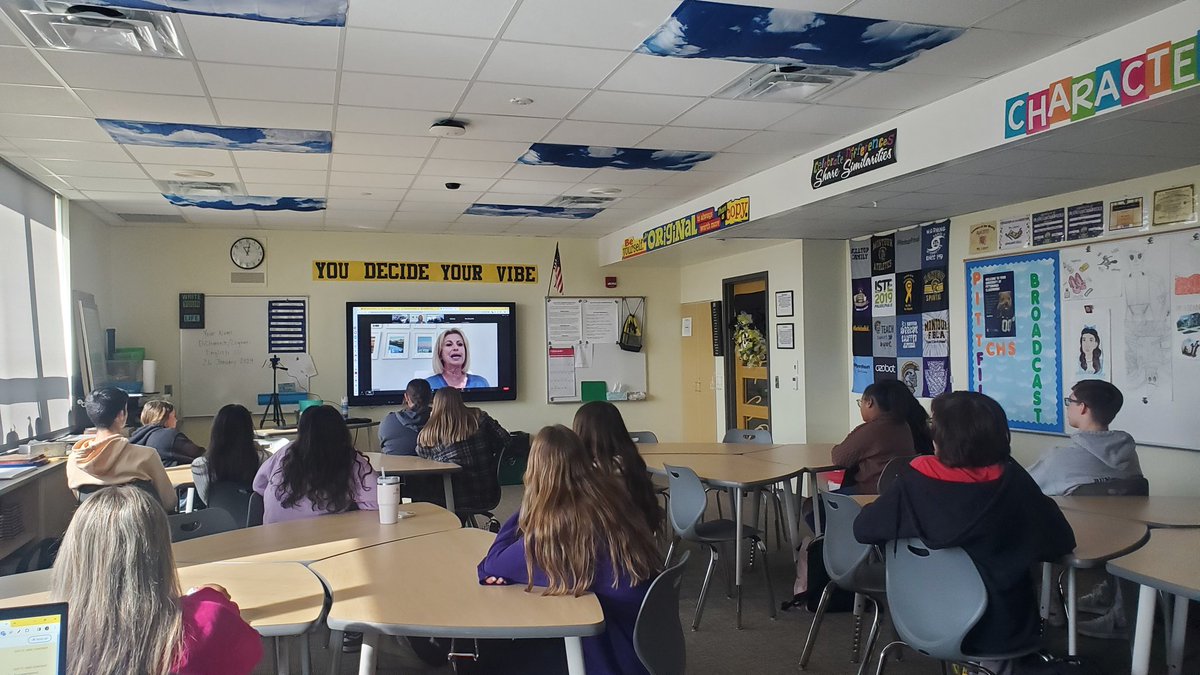
[{"label": "wooden table with the white tumbler standing on it", "polygon": [[414,502],[401,508],[415,515],[400,519],[392,525],[380,525],[378,512],[352,510],[232,530],[180,542],[172,548],[175,561],[180,563],[228,561],[307,565],[353,550],[461,526],[458,516],[437,504]]}]

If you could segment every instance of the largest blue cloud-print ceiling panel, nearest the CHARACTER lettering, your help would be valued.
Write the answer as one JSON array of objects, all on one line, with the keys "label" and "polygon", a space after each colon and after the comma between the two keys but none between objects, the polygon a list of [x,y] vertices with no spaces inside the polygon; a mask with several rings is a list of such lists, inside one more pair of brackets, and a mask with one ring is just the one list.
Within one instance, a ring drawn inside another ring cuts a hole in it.
[{"label": "largest blue cloud-print ceiling panel, nearest the CHARACTER lettering", "polygon": [[964,29],[800,10],[684,0],[637,48],[643,54],[886,71]]}]

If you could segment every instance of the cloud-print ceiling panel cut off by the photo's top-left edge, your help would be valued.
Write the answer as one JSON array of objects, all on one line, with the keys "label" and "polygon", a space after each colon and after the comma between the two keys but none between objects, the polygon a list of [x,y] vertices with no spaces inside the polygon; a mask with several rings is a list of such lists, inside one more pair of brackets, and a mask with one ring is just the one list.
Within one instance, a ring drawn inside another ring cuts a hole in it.
[{"label": "cloud-print ceiling panel cut off by the photo's top-left edge", "polygon": [[89,0],[88,4],[294,25],[346,25],[349,0]]}]

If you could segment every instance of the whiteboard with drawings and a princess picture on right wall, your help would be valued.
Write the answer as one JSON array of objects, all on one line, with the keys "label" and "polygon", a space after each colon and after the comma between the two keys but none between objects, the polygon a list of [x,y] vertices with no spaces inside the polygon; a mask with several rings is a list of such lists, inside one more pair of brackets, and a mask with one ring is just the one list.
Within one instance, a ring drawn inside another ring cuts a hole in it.
[{"label": "whiteboard with drawings and a princess picture on right wall", "polygon": [[1063,393],[1106,380],[1124,395],[1112,429],[1200,450],[1200,231],[1070,246],[1060,264]]}]

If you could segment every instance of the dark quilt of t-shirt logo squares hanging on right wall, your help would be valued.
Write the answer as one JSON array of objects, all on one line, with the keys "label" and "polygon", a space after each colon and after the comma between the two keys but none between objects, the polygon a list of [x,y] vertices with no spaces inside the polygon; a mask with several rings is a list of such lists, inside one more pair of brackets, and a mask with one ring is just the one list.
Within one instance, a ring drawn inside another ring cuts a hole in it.
[{"label": "dark quilt of t-shirt logo squares hanging on right wall", "polygon": [[949,390],[950,222],[850,243],[853,389],[900,380],[918,396]]}]

